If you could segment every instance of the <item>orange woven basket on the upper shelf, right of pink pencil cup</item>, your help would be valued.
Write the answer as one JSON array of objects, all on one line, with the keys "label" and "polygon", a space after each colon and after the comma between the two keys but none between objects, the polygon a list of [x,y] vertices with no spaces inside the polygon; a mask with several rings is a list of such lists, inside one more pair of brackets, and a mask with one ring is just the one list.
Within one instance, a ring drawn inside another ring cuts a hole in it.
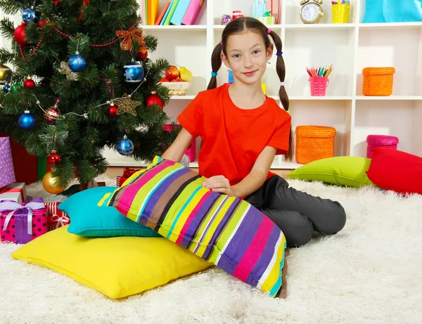
[{"label": "orange woven basket on the upper shelf, right of pink pencil cup", "polygon": [[364,96],[391,96],[394,67],[365,67],[363,93]]}]

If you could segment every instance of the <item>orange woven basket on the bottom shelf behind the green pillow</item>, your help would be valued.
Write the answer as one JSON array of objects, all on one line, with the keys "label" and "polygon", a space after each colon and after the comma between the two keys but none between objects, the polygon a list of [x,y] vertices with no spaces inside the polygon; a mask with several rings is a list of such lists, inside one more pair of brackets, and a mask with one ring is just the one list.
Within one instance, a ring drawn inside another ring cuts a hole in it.
[{"label": "orange woven basket on the bottom shelf behind the green pillow", "polygon": [[307,164],[333,157],[335,134],[333,127],[313,125],[296,127],[296,162]]}]

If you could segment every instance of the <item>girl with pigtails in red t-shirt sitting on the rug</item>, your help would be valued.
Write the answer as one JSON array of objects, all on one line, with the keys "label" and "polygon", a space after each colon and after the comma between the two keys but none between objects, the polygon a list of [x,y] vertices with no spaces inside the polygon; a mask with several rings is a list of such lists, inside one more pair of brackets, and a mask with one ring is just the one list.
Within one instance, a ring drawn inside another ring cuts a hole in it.
[{"label": "girl with pigtails in red t-shirt sitting on the rug", "polygon": [[[261,88],[274,50],[269,37],[276,46],[279,96],[285,110]],[[289,188],[286,180],[269,171],[275,155],[289,160],[293,156],[281,46],[279,35],[259,20],[243,17],[229,22],[212,53],[208,89],[177,117],[182,129],[162,158],[180,161],[189,143],[200,136],[199,173],[207,178],[203,186],[250,202],[281,228],[288,247],[300,247],[314,231],[340,231],[346,216],[339,202]],[[234,83],[217,87],[222,61],[232,70]]]}]

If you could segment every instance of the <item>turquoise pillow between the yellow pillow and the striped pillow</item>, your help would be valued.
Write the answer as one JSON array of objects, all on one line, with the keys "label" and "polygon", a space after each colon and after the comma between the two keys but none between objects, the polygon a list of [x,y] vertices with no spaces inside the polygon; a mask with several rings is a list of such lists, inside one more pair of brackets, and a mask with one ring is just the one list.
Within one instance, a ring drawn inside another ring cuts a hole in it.
[{"label": "turquoise pillow between the yellow pillow and the striped pillow", "polygon": [[81,236],[108,238],[112,236],[161,237],[151,228],[131,221],[115,207],[98,207],[98,201],[118,187],[96,187],[71,195],[58,205],[70,217],[68,232]]}]

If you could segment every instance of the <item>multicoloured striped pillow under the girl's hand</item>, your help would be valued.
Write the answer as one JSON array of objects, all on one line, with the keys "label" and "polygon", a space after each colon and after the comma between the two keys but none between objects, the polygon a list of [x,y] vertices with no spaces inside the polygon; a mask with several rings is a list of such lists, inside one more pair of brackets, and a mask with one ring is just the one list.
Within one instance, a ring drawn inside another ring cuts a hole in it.
[{"label": "multicoloured striped pillow under the girl's hand", "polygon": [[286,238],[245,200],[212,192],[205,178],[155,157],[98,202],[215,264],[231,276],[279,297]]}]

